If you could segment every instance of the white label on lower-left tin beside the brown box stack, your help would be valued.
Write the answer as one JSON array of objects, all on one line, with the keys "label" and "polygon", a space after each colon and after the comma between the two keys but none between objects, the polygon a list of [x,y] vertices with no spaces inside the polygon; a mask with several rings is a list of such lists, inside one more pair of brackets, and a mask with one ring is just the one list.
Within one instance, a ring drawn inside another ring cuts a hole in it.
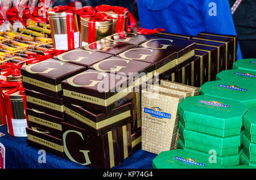
[{"label": "white label on lower-left tin beside the brown box stack", "polygon": [[27,119],[11,119],[13,123],[13,134],[17,137],[26,137]]}]

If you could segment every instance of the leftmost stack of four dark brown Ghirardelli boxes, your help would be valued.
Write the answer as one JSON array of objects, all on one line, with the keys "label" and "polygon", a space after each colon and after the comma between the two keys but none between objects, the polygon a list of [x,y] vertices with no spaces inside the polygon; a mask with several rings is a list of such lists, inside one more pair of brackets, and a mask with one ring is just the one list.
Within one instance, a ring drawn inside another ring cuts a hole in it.
[{"label": "leftmost stack of four dark brown Ghirardelli boxes", "polygon": [[27,142],[35,147],[64,157],[61,122],[64,105],[61,81],[85,67],[56,59],[23,67],[23,87],[27,97]]}]

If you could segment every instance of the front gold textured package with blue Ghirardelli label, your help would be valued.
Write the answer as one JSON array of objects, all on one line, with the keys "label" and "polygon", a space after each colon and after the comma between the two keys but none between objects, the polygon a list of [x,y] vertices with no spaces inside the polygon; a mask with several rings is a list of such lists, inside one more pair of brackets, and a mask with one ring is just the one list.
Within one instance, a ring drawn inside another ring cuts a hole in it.
[{"label": "front gold textured package with blue Ghirardelli label", "polygon": [[142,90],[142,149],[159,154],[175,148],[179,115],[184,96]]}]

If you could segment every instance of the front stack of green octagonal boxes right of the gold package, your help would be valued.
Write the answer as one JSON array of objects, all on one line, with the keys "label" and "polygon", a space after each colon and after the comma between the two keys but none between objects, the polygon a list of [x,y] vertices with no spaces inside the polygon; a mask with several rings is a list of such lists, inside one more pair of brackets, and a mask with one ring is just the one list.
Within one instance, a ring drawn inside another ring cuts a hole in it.
[{"label": "front stack of green octagonal boxes right of the gold package", "polygon": [[223,167],[240,164],[242,117],[240,102],[212,96],[188,97],[179,104],[179,148],[207,156]]}]

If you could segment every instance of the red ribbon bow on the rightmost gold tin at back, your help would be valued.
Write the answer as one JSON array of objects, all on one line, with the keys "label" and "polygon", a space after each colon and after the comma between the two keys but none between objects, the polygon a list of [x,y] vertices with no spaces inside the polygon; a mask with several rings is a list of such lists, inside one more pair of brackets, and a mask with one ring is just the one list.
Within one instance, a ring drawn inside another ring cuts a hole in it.
[{"label": "red ribbon bow on the rightmost gold tin at back", "polygon": [[[115,28],[115,33],[123,31],[123,22],[124,22],[124,19],[125,19],[125,15],[124,15],[125,12],[128,12],[128,18],[129,18],[129,19],[127,19],[127,27],[129,27],[129,29],[127,28],[126,31],[130,32],[131,29],[133,29],[134,25],[136,24],[136,20],[135,20],[133,14],[131,14],[131,12],[128,11],[128,9],[125,8],[125,7],[100,5],[100,6],[96,6],[95,10],[96,11],[101,11],[101,12],[112,10],[115,13],[118,14],[118,19],[117,19],[117,25],[116,25],[116,28]],[[130,20],[130,25],[128,25],[129,20]]]}]

